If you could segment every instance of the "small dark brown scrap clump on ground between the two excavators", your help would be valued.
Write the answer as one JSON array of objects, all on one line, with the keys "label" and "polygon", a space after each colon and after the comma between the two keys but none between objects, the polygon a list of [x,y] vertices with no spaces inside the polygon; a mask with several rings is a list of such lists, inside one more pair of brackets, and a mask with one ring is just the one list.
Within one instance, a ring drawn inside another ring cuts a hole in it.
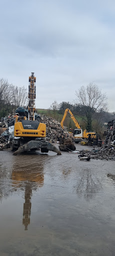
[{"label": "small dark brown scrap clump on ground between the two excavators", "polygon": [[59,143],[59,150],[60,151],[65,151],[65,152],[69,152],[69,151],[74,151],[76,148],[74,146],[74,144],[72,143],[72,141],[70,139],[65,139],[62,138],[62,140]]}]

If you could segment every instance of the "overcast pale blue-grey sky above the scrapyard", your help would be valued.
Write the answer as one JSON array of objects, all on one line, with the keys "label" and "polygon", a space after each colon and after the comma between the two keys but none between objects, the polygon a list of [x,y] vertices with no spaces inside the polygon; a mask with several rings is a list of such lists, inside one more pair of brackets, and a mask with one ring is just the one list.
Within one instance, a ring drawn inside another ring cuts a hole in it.
[{"label": "overcast pale blue-grey sky above the scrapyard", "polygon": [[114,32],[114,0],[0,1],[0,78],[28,90],[34,72],[36,108],[93,81],[115,111]]}]

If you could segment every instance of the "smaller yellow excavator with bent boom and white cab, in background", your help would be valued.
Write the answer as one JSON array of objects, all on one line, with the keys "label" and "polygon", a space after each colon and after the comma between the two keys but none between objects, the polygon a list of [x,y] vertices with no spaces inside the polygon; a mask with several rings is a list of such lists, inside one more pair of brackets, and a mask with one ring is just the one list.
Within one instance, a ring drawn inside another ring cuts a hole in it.
[{"label": "smaller yellow excavator with bent boom and white cab, in background", "polygon": [[82,132],[82,129],[80,127],[80,124],[78,123],[78,121],[76,120],[76,118],[74,117],[74,115],[72,114],[72,112],[70,111],[69,108],[66,108],[65,111],[64,111],[64,114],[63,114],[63,117],[62,117],[62,120],[60,122],[60,125],[62,127],[62,129],[64,129],[64,126],[63,126],[63,122],[64,122],[64,119],[67,115],[67,113],[69,113],[70,115],[70,118],[73,120],[73,122],[75,123],[75,126],[77,129],[74,129],[73,131],[73,139],[74,139],[74,142],[77,144],[79,143],[82,139],[86,139],[88,138],[88,135],[90,134],[91,136],[94,135],[95,133],[92,133],[92,132],[86,132],[86,130],[84,130]]}]

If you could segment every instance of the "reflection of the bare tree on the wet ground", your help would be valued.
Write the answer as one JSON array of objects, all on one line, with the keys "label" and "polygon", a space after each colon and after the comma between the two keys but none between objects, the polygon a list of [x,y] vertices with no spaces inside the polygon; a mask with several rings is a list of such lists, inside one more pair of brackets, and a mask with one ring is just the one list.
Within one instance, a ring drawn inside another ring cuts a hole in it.
[{"label": "reflection of the bare tree on the wet ground", "polygon": [[75,186],[77,194],[82,194],[86,200],[92,197],[102,188],[100,177],[96,177],[90,170],[84,170],[81,178]]}]

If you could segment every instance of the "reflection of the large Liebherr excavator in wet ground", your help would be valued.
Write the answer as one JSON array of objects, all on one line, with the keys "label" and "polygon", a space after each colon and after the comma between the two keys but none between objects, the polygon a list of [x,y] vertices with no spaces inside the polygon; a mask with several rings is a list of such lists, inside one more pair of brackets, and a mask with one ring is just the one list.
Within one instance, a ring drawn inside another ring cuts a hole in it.
[{"label": "reflection of the large Liebherr excavator in wet ground", "polygon": [[38,187],[42,187],[44,182],[43,175],[43,165],[37,165],[36,168],[33,167],[33,164],[28,163],[25,166],[18,165],[13,166],[12,169],[12,186],[15,189],[24,190],[24,199],[23,203],[23,219],[22,224],[24,225],[24,230],[27,230],[28,224],[30,224],[30,214],[31,214],[31,196],[32,190],[36,190]]}]

